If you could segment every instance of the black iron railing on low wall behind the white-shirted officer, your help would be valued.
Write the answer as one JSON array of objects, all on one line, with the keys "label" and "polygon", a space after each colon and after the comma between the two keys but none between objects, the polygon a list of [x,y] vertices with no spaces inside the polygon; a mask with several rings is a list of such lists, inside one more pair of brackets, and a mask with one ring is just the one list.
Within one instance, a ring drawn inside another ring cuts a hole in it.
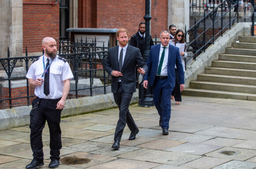
[{"label": "black iron railing on low wall behind the white-shirted officer", "polygon": [[[68,47],[65,45],[69,45]],[[63,46],[66,47],[65,52],[61,53],[63,50]],[[69,49],[68,49],[69,48]],[[78,91],[80,90],[90,90],[90,96],[93,95],[92,90],[97,88],[104,88],[104,94],[106,94],[106,87],[110,86],[110,80],[111,78],[109,75],[105,72],[104,64],[105,64],[105,58],[107,57],[109,47],[96,47],[95,43],[74,43],[68,44],[66,42],[60,42],[60,49],[59,49],[59,56],[65,58],[71,69],[72,73],[74,75],[75,80],[75,89],[70,90],[70,92],[75,91],[75,98],[78,98],[79,94]],[[72,51],[72,53],[71,53]],[[18,101],[21,98],[27,98],[27,102],[25,105],[30,105],[30,98],[34,97],[34,94],[32,95],[29,91],[29,84],[28,80],[26,79],[26,76],[19,76],[19,77],[13,77],[12,73],[15,69],[15,66],[18,62],[25,63],[24,67],[26,68],[26,73],[29,69],[29,65],[32,64],[32,62],[37,59],[40,56],[28,56],[27,49],[26,49],[26,56],[24,57],[14,57],[11,58],[9,55],[9,49],[8,49],[8,58],[2,58],[0,59],[0,63],[7,74],[7,78],[2,77],[0,81],[8,81],[8,98],[0,99],[0,102],[3,101],[9,101],[9,108],[12,108],[12,102]],[[20,64],[19,64],[20,65]],[[19,66],[20,67],[20,66]],[[102,81],[102,85],[93,86],[94,81],[93,79],[97,78]],[[19,80],[19,79],[26,79],[26,96],[23,97],[16,97],[12,95],[11,92],[11,81],[13,80]],[[90,87],[86,88],[78,88],[78,80],[79,79],[90,79]]]}]

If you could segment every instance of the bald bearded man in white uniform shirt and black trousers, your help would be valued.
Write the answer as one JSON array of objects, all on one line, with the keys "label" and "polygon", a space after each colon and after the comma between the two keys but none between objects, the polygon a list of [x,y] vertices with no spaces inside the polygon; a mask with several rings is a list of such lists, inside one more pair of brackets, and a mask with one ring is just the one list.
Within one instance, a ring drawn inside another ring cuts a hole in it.
[{"label": "bald bearded man in white uniform shirt and black trousers", "polygon": [[74,77],[68,62],[57,55],[56,41],[46,37],[42,41],[43,56],[34,60],[26,78],[35,87],[35,98],[30,112],[30,144],[33,160],[26,169],[36,169],[44,165],[42,130],[47,120],[50,132],[49,168],[60,165],[61,130],[60,115],[68,96],[70,80]]}]

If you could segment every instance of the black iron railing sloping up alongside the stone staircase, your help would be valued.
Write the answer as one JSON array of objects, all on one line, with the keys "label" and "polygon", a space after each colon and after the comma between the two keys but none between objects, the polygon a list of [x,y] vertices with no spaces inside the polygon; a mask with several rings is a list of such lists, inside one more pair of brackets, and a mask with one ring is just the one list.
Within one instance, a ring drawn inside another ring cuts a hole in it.
[{"label": "black iron railing sloping up alongside the stone staircase", "polygon": [[[214,44],[214,41],[222,36],[223,32],[230,29],[234,23],[246,22],[246,18],[250,18],[249,22],[252,22],[252,36],[254,36],[254,0],[251,0],[250,3],[238,4],[237,1],[233,0],[223,0],[221,4],[213,4],[212,11],[208,11],[207,8],[204,8],[204,17],[196,22],[188,30],[185,28],[185,41],[187,42],[187,35],[189,34],[189,42],[187,43],[187,50],[191,46],[193,55],[191,58],[185,61],[185,64],[188,63],[190,59],[196,60],[196,57],[200,53],[205,52],[205,49]],[[248,6],[251,5],[252,16],[249,17],[240,17],[238,11],[246,12]],[[240,8],[238,8],[240,7]],[[217,12],[220,12],[220,16],[217,17]],[[240,19],[239,19],[240,17]],[[210,23],[209,23],[210,21]],[[218,28],[216,28],[218,25]],[[209,35],[211,34],[211,35]]]}]

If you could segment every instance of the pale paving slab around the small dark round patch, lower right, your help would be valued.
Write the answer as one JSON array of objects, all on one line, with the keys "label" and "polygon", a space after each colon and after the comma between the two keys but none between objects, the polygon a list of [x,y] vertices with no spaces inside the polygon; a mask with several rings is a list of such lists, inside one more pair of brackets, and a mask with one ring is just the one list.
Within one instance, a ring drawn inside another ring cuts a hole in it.
[{"label": "pale paving slab around the small dark round patch, lower right", "polygon": [[[219,153],[223,150],[235,151],[235,152],[238,152],[238,154],[237,155],[226,155],[226,154]],[[214,157],[214,158],[226,158],[226,159],[230,159],[230,160],[245,161],[249,158],[256,156],[256,150],[241,149],[241,148],[235,148],[235,147],[223,147],[219,150],[207,153],[205,155],[208,157]]]}]

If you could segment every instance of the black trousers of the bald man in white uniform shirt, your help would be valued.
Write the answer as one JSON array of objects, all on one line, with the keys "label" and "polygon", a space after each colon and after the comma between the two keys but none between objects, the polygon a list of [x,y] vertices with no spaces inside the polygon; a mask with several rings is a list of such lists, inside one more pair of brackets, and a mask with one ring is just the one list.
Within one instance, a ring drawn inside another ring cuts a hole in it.
[{"label": "black trousers of the bald man in white uniform shirt", "polygon": [[[32,107],[38,101],[35,98],[32,101]],[[37,108],[30,112],[30,144],[34,159],[42,161],[44,159],[42,131],[45,127],[45,121],[49,126],[50,132],[50,155],[51,159],[60,159],[61,130],[60,130],[60,109],[56,109],[59,99],[41,99]]]}]

